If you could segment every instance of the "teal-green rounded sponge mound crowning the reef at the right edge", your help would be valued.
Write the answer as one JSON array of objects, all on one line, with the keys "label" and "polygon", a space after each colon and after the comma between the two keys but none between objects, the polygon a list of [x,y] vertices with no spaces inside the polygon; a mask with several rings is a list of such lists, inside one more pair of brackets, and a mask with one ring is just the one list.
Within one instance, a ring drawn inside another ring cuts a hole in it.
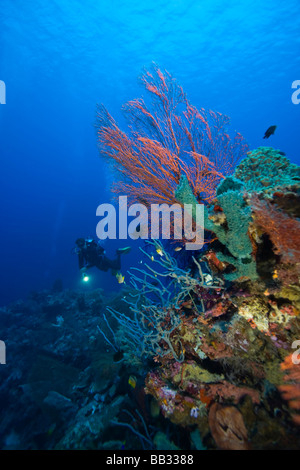
[{"label": "teal-green rounded sponge mound crowning the reef at the right edge", "polygon": [[276,187],[299,184],[300,167],[290,163],[280,150],[258,147],[239,163],[234,176],[244,182],[248,192],[272,193]]}]

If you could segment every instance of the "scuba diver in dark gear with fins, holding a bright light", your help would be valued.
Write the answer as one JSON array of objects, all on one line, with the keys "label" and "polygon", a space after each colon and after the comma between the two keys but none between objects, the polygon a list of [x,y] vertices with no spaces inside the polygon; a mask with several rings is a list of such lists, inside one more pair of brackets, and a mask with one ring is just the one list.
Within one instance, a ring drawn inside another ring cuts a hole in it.
[{"label": "scuba diver in dark gear with fins, holding a bright light", "polygon": [[101,271],[111,269],[112,275],[116,276],[118,282],[124,282],[124,276],[119,272],[121,269],[121,254],[130,252],[130,247],[118,248],[116,259],[105,256],[104,248],[93,238],[77,238],[75,253],[78,255],[79,269],[84,280],[87,280],[86,270],[96,267]]}]

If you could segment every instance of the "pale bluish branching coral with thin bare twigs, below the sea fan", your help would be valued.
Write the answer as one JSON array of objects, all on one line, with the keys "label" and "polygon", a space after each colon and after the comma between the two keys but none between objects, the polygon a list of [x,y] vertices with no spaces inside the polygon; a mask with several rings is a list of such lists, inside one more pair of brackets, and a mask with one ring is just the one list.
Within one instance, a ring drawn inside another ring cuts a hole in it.
[{"label": "pale bluish branching coral with thin bare twigs, below the sea fan", "polygon": [[184,353],[179,335],[181,305],[188,298],[195,311],[203,312],[204,303],[201,297],[197,298],[199,287],[221,288],[217,280],[215,284],[212,280],[206,283],[200,263],[195,258],[198,276],[192,277],[189,271],[178,267],[176,259],[170,256],[159,240],[149,240],[146,245],[154,248],[155,255],[140,249],[153,263],[153,267],[144,263],[144,269],[131,269],[130,283],[134,291],[128,292],[123,299],[132,315],[107,307],[118,323],[118,332],[114,333],[105,316],[106,329],[110,331],[112,340],[103,329],[99,328],[99,331],[114,349],[123,349],[131,362],[140,361],[143,357],[162,358],[168,355],[182,362]]}]

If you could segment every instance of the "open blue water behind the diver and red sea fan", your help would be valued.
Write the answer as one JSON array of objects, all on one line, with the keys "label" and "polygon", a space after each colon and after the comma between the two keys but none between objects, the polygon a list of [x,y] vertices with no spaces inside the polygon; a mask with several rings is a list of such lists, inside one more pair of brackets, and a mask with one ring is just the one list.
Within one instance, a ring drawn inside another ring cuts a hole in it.
[{"label": "open blue water behind the diver and red sea fan", "polygon": [[[97,151],[96,103],[121,119],[152,61],[195,106],[229,115],[251,149],[276,124],[266,145],[299,164],[299,31],[299,0],[1,0],[1,304],[57,278],[79,286],[70,250],[95,236],[113,180]],[[102,273],[93,279],[111,288]]]}]

